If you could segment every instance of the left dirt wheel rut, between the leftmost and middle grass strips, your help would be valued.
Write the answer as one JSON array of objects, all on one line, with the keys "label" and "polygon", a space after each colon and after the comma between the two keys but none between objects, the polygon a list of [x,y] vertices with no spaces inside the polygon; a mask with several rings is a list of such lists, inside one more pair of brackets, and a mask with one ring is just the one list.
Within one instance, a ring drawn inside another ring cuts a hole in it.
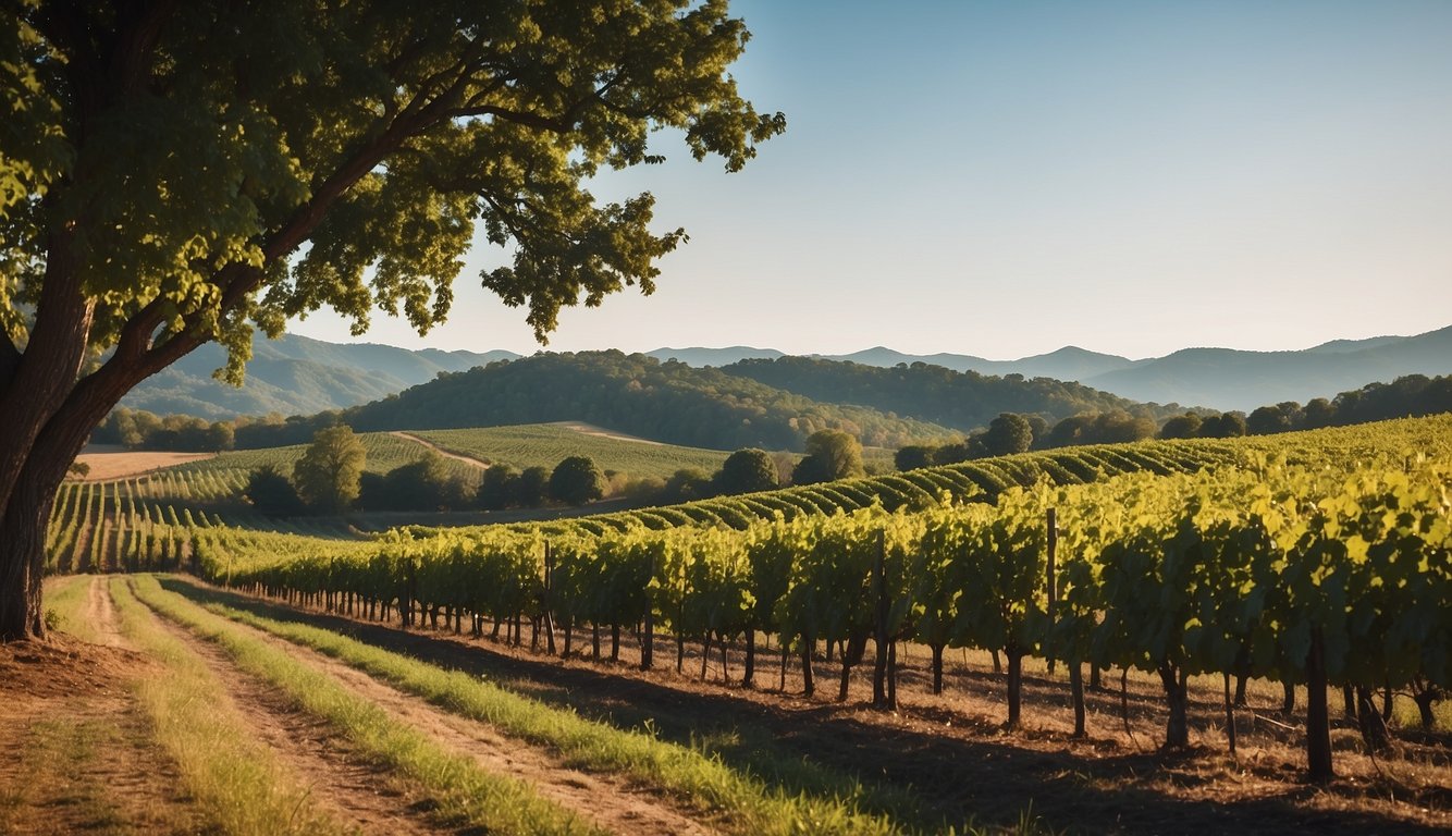
[{"label": "left dirt wheel rut, between the leftmost and middle grass strips", "polygon": [[257,740],[303,782],[309,806],[362,833],[423,836],[446,830],[428,816],[430,804],[421,792],[372,763],[327,721],[293,707],[270,685],[240,671],[216,644],[155,614],[150,617],[212,668],[224,687],[218,698],[231,701]]}]

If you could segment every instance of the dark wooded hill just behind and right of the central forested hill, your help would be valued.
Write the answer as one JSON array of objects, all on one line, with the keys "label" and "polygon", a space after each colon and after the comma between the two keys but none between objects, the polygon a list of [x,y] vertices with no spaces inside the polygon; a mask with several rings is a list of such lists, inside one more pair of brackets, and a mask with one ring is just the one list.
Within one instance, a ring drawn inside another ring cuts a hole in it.
[{"label": "dark wooded hill just behind and right of the central forested hill", "polygon": [[796,395],[873,406],[960,431],[979,430],[1000,412],[1040,414],[1050,422],[1083,412],[1117,409],[1143,411],[1156,419],[1183,412],[1179,408],[1135,403],[1080,383],[1047,377],[1027,380],[1018,374],[995,377],[923,363],[883,369],[861,363],[781,357],[743,360],[725,366],[722,372]]}]

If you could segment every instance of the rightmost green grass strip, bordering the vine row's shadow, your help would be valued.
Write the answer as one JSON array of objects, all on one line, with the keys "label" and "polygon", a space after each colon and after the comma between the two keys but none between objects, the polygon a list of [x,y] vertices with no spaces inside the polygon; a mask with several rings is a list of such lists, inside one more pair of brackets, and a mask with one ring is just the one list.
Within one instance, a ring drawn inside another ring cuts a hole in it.
[{"label": "rightmost green grass strip, bordering the vine row's shadow", "polygon": [[[183,582],[167,582],[183,594],[203,591]],[[208,604],[208,610],[266,630],[289,642],[312,647],[321,653],[385,679],[395,687],[423,697],[430,702],[489,723],[505,734],[530,743],[558,749],[571,763],[601,772],[619,772],[649,787],[680,794],[704,813],[726,813],[726,829],[739,833],[894,833],[910,829],[893,819],[916,819],[915,803],[905,792],[876,791],[894,795],[889,819],[862,811],[868,791],[861,784],[841,779],[839,787],[823,795],[788,794],[770,788],[759,778],[743,775],[725,765],[719,756],[697,749],[664,742],[645,732],[626,732],[579,717],[574,711],[553,708],[505,691],[489,682],[473,679],[457,671],[443,671],[399,653],[373,647],[330,630],[298,623],[264,618],[250,611],[222,604]],[[815,772],[800,761],[783,761],[780,772]],[[820,774],[809,779],[822,782]]]}]

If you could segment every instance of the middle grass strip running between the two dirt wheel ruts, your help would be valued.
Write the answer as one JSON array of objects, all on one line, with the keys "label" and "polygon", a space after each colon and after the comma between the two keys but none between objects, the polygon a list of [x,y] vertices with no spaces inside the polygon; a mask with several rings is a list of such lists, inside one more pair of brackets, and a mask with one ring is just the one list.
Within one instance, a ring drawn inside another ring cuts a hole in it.
[{"label": "middle grass strip running between the two dirt wheel ruts", "polygon": [[155,578],[136,578],[134,586],[148,607],[215,642],[242,671],[280,688],[303,710],[338,727],[364,752],[417,781],[434,797],[446,819],[468,821],[488,833],[592,832],[590,824],[540,798],[523,781],[489,772],[470,758],[446,752],[333,676],[266,642],[241,634],[235,626],[180,595],[163,591]]}]

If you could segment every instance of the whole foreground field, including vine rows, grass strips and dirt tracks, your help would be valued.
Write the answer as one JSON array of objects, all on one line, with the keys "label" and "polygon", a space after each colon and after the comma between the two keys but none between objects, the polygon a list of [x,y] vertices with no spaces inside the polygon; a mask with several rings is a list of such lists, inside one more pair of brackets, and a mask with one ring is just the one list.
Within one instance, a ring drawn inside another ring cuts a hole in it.
[{"label": "whole foreground field, including vine rows, grass strips and dirt tracks", "polygon": [[[81,778],[0,774],[0,823],[1446,832],[1449,421],[376,540],[193,514],[245,473],[211,463],[77,483],[52,536],[90,557],[57,570],[193,576],[54,581],[62,627],[102,647],[0,659],[7,768]],[[1323,662],[1298,644],[1317,634]],[[30,698],[28,676],[70,685]],[[1334,775],[1310,779],[1316,694]],[[89,778],[129,769],[147,776]]]}]

